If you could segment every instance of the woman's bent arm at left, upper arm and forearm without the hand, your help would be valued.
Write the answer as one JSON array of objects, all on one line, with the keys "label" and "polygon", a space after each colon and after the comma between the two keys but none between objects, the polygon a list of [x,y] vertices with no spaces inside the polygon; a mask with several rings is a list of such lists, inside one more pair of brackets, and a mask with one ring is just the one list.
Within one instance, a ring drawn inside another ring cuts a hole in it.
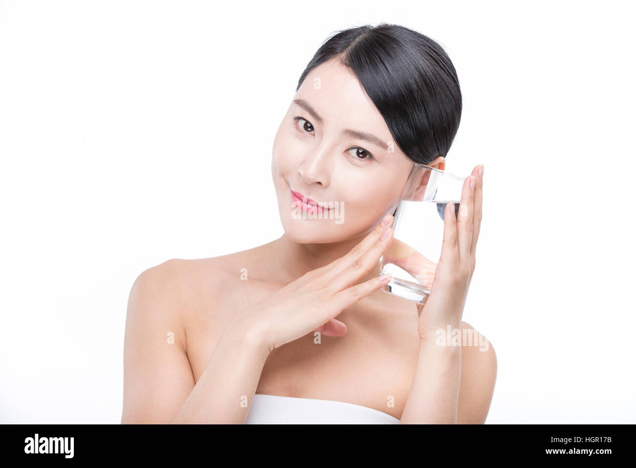
[{"label": "woman's bent arm at left, upper arm and forearm without the hand", "polygon": [[232,323],[196,385],[186,355],[179,260],[149,268],[128,299],[121,423],[244,423],[269,350]]}]

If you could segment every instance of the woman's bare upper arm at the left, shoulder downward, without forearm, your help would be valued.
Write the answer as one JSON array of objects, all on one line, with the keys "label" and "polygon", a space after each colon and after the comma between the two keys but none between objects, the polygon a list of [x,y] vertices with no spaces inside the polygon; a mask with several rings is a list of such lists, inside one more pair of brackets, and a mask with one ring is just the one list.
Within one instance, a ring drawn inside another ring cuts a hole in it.
[{"label": "woman's bare upper arm at the left, shoulder downward, without forearm", "polygon": [[137,276],[128,297],[121,423],[169,423],[195,381],[179,316],[176,259]]}]

